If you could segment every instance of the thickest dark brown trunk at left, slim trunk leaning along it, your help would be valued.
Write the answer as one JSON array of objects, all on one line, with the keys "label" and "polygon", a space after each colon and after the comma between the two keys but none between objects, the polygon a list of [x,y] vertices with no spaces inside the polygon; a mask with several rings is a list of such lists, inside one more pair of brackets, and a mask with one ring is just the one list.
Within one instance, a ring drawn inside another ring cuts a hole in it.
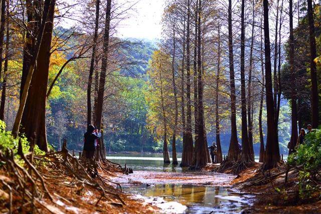
[{"label": "thickest dark brown trunk at left, slim trunk leaning along it", "polygon": [[[31,63],[28,66],[28,75],[24,84],[20,106],[15,120],[13,134],[17,135],[22,124],[22,133],[28,139],[34,139],[40,149],[48,151],[46,135],[46,92],[48,84],[50,48],[53,31],[55,0],[47,0],[37,42],[33,48]],[[38,57],[39,56],[39,57]],[[37,63],[37,67],[35,68]],[[41,63],[40,63],[41,62]],[[34,136],[36,134],[36,136]]]}]

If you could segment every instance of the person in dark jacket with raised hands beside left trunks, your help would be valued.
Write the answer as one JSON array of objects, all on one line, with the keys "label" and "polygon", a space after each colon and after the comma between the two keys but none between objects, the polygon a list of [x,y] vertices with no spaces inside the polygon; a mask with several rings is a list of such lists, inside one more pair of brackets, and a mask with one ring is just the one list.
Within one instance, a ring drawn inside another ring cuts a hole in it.
[{"label": "person in dark jacket with raised hands beside left trunks", "polygon": [[96,131],[93,125],[89,125],[87,132],[84,134],[84,151],[86,151],[86,158],[93,159],[95,155],[95,140],[100,138],[101,133]]}]

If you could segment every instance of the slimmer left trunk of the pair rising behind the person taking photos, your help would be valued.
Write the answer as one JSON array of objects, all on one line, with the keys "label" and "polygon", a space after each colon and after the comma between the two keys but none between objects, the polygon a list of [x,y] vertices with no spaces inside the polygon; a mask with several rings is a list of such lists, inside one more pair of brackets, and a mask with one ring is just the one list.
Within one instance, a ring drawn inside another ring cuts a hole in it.
[{"label": "slimmer left trunk of the pair rising behind the person taking photos", "polygon": [[98,38],[99,4],[100,4],[100,0],[96,0],[95,32],[94,32],[94,38],[93,38],[93,46],[92,46],[88,85],[87,85],[87,126],[91,124],[91,85],[92,85],[92,75],[95,67],[96,46],[97,46],[97,38]]}]

